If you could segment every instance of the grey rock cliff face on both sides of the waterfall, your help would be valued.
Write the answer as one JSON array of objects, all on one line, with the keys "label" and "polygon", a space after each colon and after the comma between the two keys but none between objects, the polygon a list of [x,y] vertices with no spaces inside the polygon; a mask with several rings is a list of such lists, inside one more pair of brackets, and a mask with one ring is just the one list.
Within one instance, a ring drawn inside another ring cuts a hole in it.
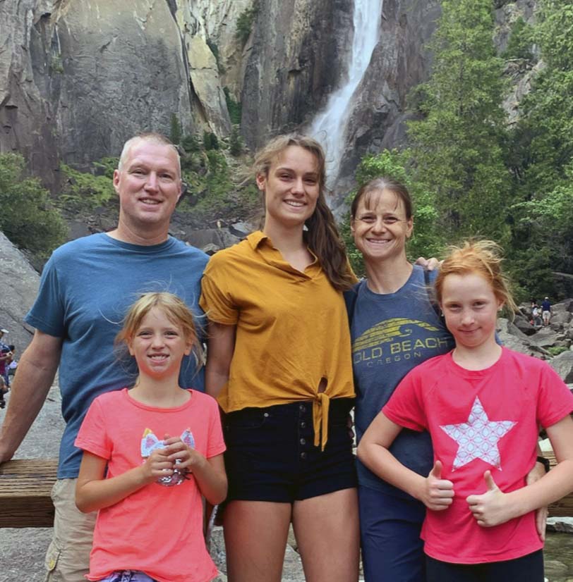
[{"label": "grey rock cliff face on both sides of the waterfall", "polygon": [[[231,129],[224,87],[243,106],[255,149],[269,135],[308,128],[348,72],[353,1],[258,0],[247,42],[236,38],[254,0],[0,0],[0,152],[21,151],[32,173],[58,181],[60,161],[118,155],[140,130]],[[340,166],[344,192],[369,150],[404,141],[406,94],[428,78],[423,49],[439,0],[385,0],[380,39],[349,111]],[[536,0],[495,4],[502,49]],[[359,31],[358,31],[359,34]],[[516,75],[507,109],[526,92]],[[517,113],[515,113],[517,115]]]}]

